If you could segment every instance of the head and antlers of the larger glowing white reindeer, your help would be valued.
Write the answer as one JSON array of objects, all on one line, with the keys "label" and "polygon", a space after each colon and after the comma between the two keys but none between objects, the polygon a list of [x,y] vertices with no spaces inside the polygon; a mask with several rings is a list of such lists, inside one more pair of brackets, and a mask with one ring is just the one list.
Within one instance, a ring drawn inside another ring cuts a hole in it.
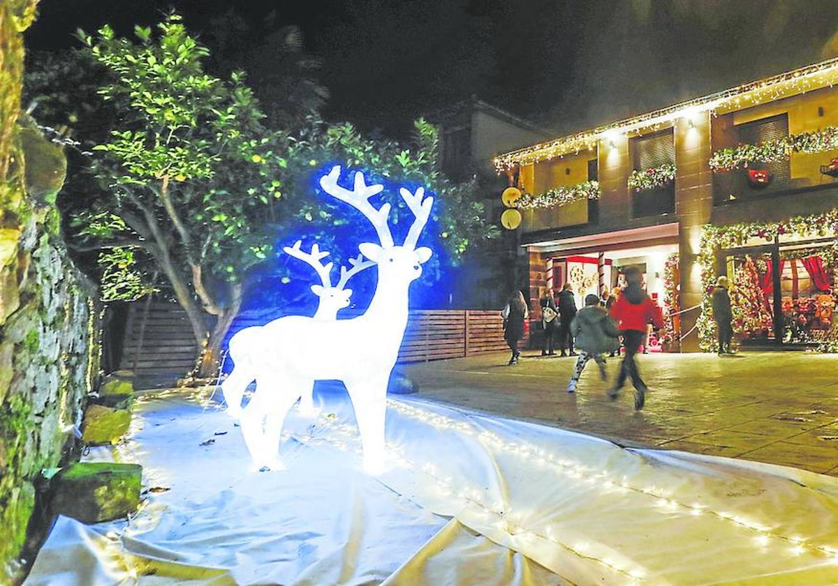
[{"label": "head and antlers of the larger glowing white reindeer", "polygon": [[328,175],[320,177],[320,187],[332,197],[349,203],[370,220],[370,224],[373,225],[375,232],[378,234],[380,244],[365,242],[360,244],[358,249],[361,254],[378,265],[380,279],[393,279],[408,283],[418,279],[419,275],[422,275],[422,264],[427,262],[432,254],[431,249],[425,246],[416,248],[416,243],[431,215],[433,198],[425,198],[424,188],[416,189],[415,193],[411,193],[405,188],[399,190],[407,207],[416,217],[407,233],[404,244],[399,246],[393,242],[390,225],[387,223],[390,215],[390,204],[385,203],[380,208],[375,209],[370,203],[370,197],[380,193],[384,186],[367,185],[364,174],[356,172],[354,187],[350,191],[338,185],[339,177],[340,166],[336,165],[332,167]]}]

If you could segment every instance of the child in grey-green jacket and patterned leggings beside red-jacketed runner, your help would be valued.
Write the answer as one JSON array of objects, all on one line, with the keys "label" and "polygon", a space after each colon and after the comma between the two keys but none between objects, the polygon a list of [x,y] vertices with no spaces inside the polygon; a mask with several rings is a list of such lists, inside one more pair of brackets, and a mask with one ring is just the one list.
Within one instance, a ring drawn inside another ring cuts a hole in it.
[{"label": "child in grey-green jacket and patterned leggings beside red-jacketed runner", "polygon": [[599,298],[593,294],[586,296],[585,306],[577,312],[571,323],[571,333],[576,341],[579,357],[570,383],[567,383],[568,393],[576,392],[579,377],[591,359],[597,362],[603,380],[608,379],[608,372],[605,370],[605,352],[618,347],[620,332],[611,316],[608,315],[608,311],[600,306],[599,302]]}]

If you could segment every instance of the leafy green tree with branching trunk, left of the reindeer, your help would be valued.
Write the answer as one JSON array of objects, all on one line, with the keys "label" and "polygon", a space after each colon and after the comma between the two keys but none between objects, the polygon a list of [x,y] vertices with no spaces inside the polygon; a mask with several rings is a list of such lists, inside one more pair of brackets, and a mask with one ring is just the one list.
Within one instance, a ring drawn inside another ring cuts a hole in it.
[{"label": "leafy green tree with branching trunk, left of the reindeer", "polygon": [[[109,27],[82,35],[109,73],[100,94],[122,105],[108,140],[93,146],[101,198],[77,213],[78,236],[104,249],[106,297],[147,292],[157,275],[204,348],[202,373],[239,311],[243,278],[267,258],[260,228],[274,215],[286,136],[266,130],[241,75],[208,75],[208,51],[177,15],[137,27],[137,43]],[[153,272],[151,272],[153,271]]]}]

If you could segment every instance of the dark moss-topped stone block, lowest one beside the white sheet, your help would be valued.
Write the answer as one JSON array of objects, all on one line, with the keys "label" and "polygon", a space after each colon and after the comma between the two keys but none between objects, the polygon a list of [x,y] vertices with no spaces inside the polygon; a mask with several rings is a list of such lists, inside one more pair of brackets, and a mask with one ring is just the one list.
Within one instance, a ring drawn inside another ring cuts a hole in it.
[{"label": "dark moss-topped stone block, lowest one beside the white sheet", "polygon": [[137,511],[142,466],[77,462],[62,471],[52,510],[83,523],[112,521]]}]

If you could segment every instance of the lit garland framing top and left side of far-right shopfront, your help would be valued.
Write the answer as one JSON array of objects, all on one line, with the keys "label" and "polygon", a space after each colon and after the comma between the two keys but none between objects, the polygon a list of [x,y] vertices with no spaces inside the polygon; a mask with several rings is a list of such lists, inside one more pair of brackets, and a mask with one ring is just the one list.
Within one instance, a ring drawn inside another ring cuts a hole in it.
[{"label": "lit garland framing top and left side of far-right shopfront", "polygon": [[[716,341],[716,322],[712,318],[712,292],[716,284],[716,250],[742,246],[748,239],[754,237],[773,242],[778,236],[794,234],[801,237],[817,235],[823,237],[828,231],[838,234],[838,208],[827,213],[813,216],[795,216],[783,222],[758,224],[755,222],[732,224],[730,226],[706,225],[701,234],[701,248],[698,253],[698,264],[701,266],[701,290],[704,299],[701,304],[701,316],[696,322],[699,346],[705,352],[718,350]],[[831,253],[827,258],[838,258],[838,238],[831,244]],[[836,328],[833,328],[833,333]],[[828,345],[820,348],[828,352]],[[835,344],[838,349],[838,343]]]}]

